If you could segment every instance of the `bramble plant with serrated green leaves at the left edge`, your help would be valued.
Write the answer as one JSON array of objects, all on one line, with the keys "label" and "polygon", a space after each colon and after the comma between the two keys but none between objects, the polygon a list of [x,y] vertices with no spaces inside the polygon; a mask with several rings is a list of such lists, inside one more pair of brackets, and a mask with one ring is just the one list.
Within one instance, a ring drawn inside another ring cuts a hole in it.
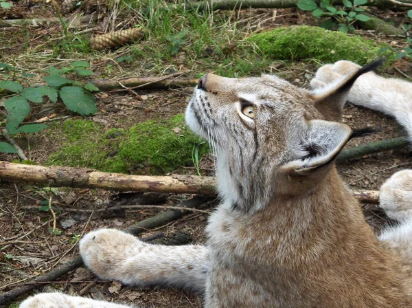
[{"label": "bramble plant with serrated green leaves at the left edge", "polygon": [[[49,67],[48,76],[44,80],[47,85],[41,87],[23,87],[16,80],[16,72],[11,65],[0,63],[0,69],[4,72],[4,78],[12,80],[0,80],[0,91],[8,91],[12,96],[4,101],[4,107],[7,111],[5,123],[0,122],[0,128],[5,126],[8,134],[16,135],[18,133],[36,133],[47,128],[45,124],[23,124],[23,120],[30,114],[30,104],[43,103],[43,97],[56,103],[58,98],[62,100],[67,109],[81,115],[93,114],[97,111],[95,98],[92,91],[99,89],[93,83],[82,84],[78,81],[63,77],[65,74],[74,74],[78,76],[90,76],[93,74],[88,69],[89,64],[84,61],[71,63],[70,67],[58,69]],[[22,74],[22,78],[33,76],[32,74]],[[0,92],[1,93],[1,92]],[[7,142],[0,142],[0,152],[16,153],[16,149]]]}]

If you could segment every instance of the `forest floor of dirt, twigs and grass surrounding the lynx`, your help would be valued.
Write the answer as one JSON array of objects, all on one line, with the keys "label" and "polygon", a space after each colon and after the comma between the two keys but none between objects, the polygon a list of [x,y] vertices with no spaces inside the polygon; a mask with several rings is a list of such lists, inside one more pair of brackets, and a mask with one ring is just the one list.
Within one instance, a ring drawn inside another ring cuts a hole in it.
[{"label": "forest floor of dirt, twigs and grass surrounding the lynx", "polygon": [[[0,11],[0,19],[58,17],[54,0],[13,3],[14,6],[10,10]],[[300,87],[308,87],[314,72],[323,64],[316,59],[284,61],[262,57],[258,52],[244,54],[244,45],[247,44],[244,38],[250,34],[284,25],[319,24],[310,13],[297,8],[185,12],[185,15],[179,17],[174,16],[176,12],[167,16],[154,16],[159,13],[150,5],[142,12],[139,7],[133,6],[133,2],[124,3],[127,5],[92,0],[76,6],[76,1],[58,1],[62,16],[71,17],[64,27],[62,23],[55,21],[3,26],[0,28],[1,62],[12,65],[13,74],[34,74],[35,76],[22,79],[21,82],[26,85],[42,82],[49,66],[62,68],[69,67],[73,61],[87,61],[94,74],[89,79],[78,79],[82,82],[125,76],[157,77],[176,72],[182,72],[179,76],[182,78],[198,78],[207,72],[236,77],[259,76],[265,72],[277,74]],[[393,21],[397,27],[407,22],[402,12],[368,10],[377,17]],[[85,21],[80,20],[80,16],[87,18]],[[141,24],[149,30],[145,41],[103,52],[91,50],[88,45],[91,35]],[[399,48],[405,45],[404,36],[387,36],[361,28],[354,31],[354,34]],[[385,68],[382,74],[408,78],[407,76],[412,76],[412,64],[403,58]],[[3,79],[5,76],[0,75],[0,80]],[[62,103],[36,105],[32,107],[30,118],[26,121],[65,118],[50,122],[51,127],[45,131],[19,135],[16,141],[30,160],[36,164],[48,164],[51,155],[65,146],[62,144],[62,140],[67,139],[62,130],[65,121],[83,118],[97,123],[103,131],[113,128],[129,129],[139,122],[170,118],[172,115],[183,113],[192,88],[136,91],[143,99],[138,100],[128,91],[98,92],[95,94],[98,113],[87,117],[67,111]],[[2,100],[0,111],[4,113]],[[392,118],[352,104],[345,107],[343,122],[354,128],[374,126],[380,129],[374,135],[352,140],[347,148],[405,135],[402,127]],[[93,136],[90,138],[93,142],[99,142],[94,140]],[[84,153],[87,151],[88,149],[84,148]],[[0,160],[12,162],[14,159],[19,157],[14,154],[0,154]],[[411,166],[411,153],[405,149],[343,162],[338,165],[338,169],[351,188],[379,190],[385,179],[396,171]],[[199,167],[201,175],[214,175],[213,157],[204,155],[200,159]],[[196,174],[196,168],[181,166],[172,173]],[[104,190],[48,188],[0,181],[0,295],[30,283],[32,278],[41,276],[76,257],[78,239],[85,232],[98,228],[126,229],[133,223],[152,217],[163,210],[161,206],[150,209],[129,208],[108,216],[99,212],[115,202],[145,204],[141,201],[144,198],[141,197],[140,194],[133,193],[119,195]],[[165,197],[162,205],[167,206],[190,196]],[[57,217],[45,208],[44,201],[49,199],[52,199],[56,208],[60,208]],[[211,212],[213,205],[209,203],[202,210]],[[376,232],[379,232],[386,222],[385,214],[375,205],[363,207],[365,219]],[[193,212],[178,221],[150,230],[144,236],[159,231],[168,236],[178,230],[185,230],[192,234],[192,243],[205,243],[204,228],[207,216],[205,212]],[[53,228],[54,223],[58,232],[51,233],[49,230]],[[122,286],[116,282],[99,281],[84,267],[61,276],[49,287],[68,294],[113,300],[139,307],[183,308],[202,305],[202,298],[190,292],[172,288],[139,289]],[[16,307],[22,299],[16,299],[14,303],[10,303],[10,307]]]}]

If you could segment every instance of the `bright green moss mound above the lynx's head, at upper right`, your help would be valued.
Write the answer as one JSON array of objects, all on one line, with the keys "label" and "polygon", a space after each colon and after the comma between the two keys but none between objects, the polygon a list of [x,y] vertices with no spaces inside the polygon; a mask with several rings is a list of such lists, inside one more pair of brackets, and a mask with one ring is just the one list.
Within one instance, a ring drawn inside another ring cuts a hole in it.
[{"label": "bright green moss mound above the lynx's head, at upper right", "polygon": [[276,28],[250,36],[249,41],[275,59],[317,59],[325,63],[349,60],[360,65],[378,58],[379,50],[388,46],[362,36],[307,25]]}]

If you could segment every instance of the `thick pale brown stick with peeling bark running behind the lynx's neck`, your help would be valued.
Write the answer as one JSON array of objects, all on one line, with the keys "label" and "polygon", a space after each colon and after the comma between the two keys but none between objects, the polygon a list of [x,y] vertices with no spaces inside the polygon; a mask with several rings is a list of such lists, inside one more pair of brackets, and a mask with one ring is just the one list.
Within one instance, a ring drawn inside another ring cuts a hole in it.
[{"label": "thick pale brown stick with peeling bark running behind the lynx's neck", "polygon": [[[365,155],[365,154],[362,154]],[[358,155],[356,157],[362,156]],[[215,195],[214,177],[196,175],[172,175],[168,177],[148,175],[122,175],[105,173],[87,168],[45,167],[13,164],[0,161],[0,179],[34,181],[54,187],[102,188],[117,191],[172,192],[177,194]],[[362,201],[363,194],[353,192]]]}]

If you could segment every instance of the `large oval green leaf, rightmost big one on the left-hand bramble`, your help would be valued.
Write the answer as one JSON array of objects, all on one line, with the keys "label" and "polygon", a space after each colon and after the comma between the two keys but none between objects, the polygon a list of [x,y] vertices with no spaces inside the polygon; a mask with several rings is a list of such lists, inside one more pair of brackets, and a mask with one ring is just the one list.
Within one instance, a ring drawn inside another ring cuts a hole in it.
[{"label": "large oval green leaf, rightmost big one on the left-hand bramble", "polygon": [[82,87],[63,87],[60,90],[60,98],[65,103],[67,109],[81,115],[89,115],[98,111],[95,97],[90,93],[84,92]]}]

